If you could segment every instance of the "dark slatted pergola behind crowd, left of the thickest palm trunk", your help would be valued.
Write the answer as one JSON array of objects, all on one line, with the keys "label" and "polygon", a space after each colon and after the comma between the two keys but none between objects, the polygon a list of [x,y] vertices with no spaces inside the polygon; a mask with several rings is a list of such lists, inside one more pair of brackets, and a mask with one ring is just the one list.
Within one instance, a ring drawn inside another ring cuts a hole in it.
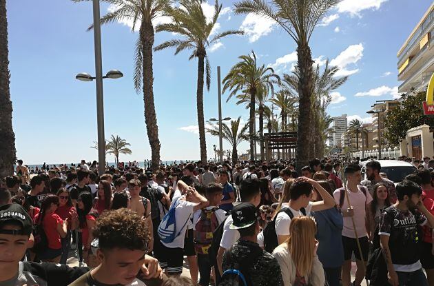
[{"label": "dark slatted pergola behind crowd, left of the thickest palm trunk", "polygon": [[264,141],[265,158],[267,161],[270,161],[273,150],[287,150],[289,154],[295,154],[297,147],[297,132],[265,133]]}]

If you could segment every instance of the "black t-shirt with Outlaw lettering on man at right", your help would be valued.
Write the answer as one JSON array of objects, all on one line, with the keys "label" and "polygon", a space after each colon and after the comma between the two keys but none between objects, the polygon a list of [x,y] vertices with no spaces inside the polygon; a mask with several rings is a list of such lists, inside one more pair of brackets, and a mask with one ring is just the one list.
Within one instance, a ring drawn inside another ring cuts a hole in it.
[{"label": "black t-shirt with Outlaw lettering on man at right", "polygon": [[422,240],[422,234],[418,226],[426,222],[426,217],[420,212],[403,212],[393,205],[384,210],[379,234],[390,236],[389,249],[393,264],[411,265],[420,259],[418,243]]}]

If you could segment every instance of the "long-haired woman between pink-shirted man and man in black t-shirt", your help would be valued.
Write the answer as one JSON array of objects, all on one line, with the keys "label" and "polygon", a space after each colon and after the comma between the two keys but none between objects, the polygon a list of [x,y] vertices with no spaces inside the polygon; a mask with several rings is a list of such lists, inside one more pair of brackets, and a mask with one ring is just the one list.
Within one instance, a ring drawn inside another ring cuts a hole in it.
[{"label": "long-haired woman between pink-shirted man and man in black t-shirt", "polygon": [[375,229],[380,223],[380,218],[383,210],[391,206],[389,198],[389,190],[383,183],[378,183],[373,186],[372,201],[369,203],[366,218],[368,219],[368,234],[369,240],[373,241],[375,237]]}]

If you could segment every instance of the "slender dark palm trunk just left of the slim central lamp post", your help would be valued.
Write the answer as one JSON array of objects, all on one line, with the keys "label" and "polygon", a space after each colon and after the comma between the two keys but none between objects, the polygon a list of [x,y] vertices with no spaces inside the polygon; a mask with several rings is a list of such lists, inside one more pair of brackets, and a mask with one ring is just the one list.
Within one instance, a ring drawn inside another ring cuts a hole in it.
[{"label": "slender dark palm trunk just left of the slim central lamp post", "polygon": [[205,52],[198,55],[198,90],[197,109],[199,125],[200,161],[207,163],[207,141],[205,139],[205,117],[203,115],[203,76],[205,67]]}]

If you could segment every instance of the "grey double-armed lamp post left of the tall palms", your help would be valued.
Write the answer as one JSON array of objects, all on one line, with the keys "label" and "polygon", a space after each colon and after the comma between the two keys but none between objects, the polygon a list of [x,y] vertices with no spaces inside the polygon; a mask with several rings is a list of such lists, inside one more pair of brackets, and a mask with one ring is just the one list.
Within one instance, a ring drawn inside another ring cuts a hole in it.
[{"label": "grey double-armed lamp post left of the tall palms", "polygon": [[[99,14],[99,12],[98,12]],[[99,18],[98,18],[99,21]],[[100,35],[101,37],[101,35]],[[100,38],[100,52],[101,52],[101,38]],[[99,54],[101,57],[101,53]],[[95,52],[96,57],[96,52]],[[95,65],[97,65],[95,59]],[[101,58],[99,63],[101,64]],[[101,66],[100,66],[101,67]],[[104,136],[104,101],[103,101],[103,79],[119,79],[123,73],[118,70],[110,70],[105,76],[98,76],[98,68],[96,67],[96,76],[91,76],[86,72],[76,74],[75,78],[79,81],[93,81],[96,80],[96,121],[98,124],[98,173],[101,176],[105,172],[105,136]],[[101,83],[100,83],[101,81]]]}]

